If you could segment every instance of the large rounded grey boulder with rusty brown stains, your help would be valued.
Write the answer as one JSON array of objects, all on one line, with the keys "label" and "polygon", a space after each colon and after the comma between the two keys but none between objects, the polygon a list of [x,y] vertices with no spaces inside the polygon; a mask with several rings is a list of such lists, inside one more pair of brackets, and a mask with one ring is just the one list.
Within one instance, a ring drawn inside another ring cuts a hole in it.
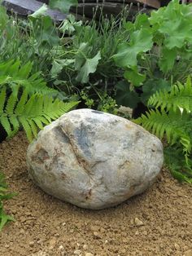
[{"label": "large rounded grey boulder with rusty brown stains", "polygon": [[73,110],[28,146],[28,174],[45,192],[103,209],[142,193],[163,165],[159,139],[122,117]]}]

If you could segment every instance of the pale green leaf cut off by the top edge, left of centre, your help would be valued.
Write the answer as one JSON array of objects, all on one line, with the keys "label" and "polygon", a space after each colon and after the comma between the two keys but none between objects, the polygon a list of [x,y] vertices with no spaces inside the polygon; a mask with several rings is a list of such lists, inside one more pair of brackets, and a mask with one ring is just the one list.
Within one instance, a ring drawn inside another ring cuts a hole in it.
[{"label": "pale green leaf cut off by the top edge, left of centre", "polygon": [[70,7],[76,7],[77,0],[50,0],[50,7],[53,9],[59,9],[63,13],[68,13]]}]

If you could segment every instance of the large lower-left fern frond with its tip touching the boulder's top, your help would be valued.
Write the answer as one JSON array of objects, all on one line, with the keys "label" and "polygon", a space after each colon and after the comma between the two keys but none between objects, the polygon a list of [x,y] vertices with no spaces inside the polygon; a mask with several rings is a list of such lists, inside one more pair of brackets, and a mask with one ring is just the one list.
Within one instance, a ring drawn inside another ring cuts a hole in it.
[{"label": "large lower-left fern frond with its tip touching the boulder's top", "polygon": [[51,121],[60,117],[63,113],[74,108],[78,102],[63,103],[59,99],[53,99],[48,95],[28,95],[27,90],[19,96],[13,91],[6,101],[7,90],[0,90],[0,123],[7,131],[8,137],[15,135],[22,126],[32,141],[37,136],[37,131],[43,129]]}]

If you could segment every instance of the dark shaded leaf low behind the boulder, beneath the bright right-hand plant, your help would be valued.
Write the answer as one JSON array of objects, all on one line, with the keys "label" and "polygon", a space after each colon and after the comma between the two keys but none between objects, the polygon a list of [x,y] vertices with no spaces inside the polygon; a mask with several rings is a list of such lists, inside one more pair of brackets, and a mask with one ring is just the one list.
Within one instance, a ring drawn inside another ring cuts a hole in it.
[{"label": "dark shaded leaf low behind the boulder, beneath the bright right-hand plant", "polygon": [[135,108],[139,101],[139,96],[135,91],[130,90],[128,82],[121,81],[116,84],[116,103],[118,105]]}]

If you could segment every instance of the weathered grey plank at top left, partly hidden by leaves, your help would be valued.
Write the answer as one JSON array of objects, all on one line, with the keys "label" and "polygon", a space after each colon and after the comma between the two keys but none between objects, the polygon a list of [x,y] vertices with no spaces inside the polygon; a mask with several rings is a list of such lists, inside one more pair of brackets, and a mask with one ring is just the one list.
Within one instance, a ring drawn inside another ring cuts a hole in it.
[{"label": "weathered grey plank at top left, partly hidden by leaves", "polygon": [[[3,0],[2,5],[5,6],[8,11],[13,11],[18,15],[30,15],[37,11],[43,5],[43,2],[36,0]],[[51,10],[50,8],[48,8],[46,13],[55,21],[62,21],[67,17],[67,15],[62,12]]]}]

